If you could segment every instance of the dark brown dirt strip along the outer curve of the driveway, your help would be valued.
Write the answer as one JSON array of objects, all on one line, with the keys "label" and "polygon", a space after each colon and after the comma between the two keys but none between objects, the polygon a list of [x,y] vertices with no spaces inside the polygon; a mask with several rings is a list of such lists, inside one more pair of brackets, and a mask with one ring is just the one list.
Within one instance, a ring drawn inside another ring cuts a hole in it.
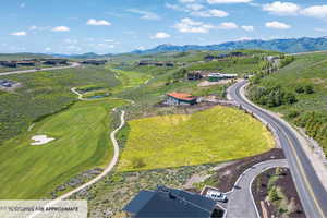
[{"label": "dark brown dirt strip along the outer curve of the driveway", "polygon": [[284,159],[282,149],[272,148],[267,153],[246,157],[241,160],[234,161],[232,165],[228,165],[223,168],[219,168],[215,174],[209,179],[216,181],[216,184],[210,186],[217,187],[220,192],[231,191],[239,177],[250,167],[270,159]]}]

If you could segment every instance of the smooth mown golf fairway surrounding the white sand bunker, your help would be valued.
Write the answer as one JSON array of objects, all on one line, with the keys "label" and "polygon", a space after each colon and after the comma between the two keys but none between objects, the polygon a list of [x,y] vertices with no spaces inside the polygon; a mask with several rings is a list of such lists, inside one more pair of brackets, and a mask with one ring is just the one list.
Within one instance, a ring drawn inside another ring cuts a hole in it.
[{"label": "smooth mown golf fairway surrounding the white sand bunker", "polygon": [[[82,171],[105,167],[112,157],[111,113],[123,100],[77,102],[36,123],[31,132],[0,146],[0,198],[49,197],[58,185]],[[32,146],[31,137],[56,140]]]}]

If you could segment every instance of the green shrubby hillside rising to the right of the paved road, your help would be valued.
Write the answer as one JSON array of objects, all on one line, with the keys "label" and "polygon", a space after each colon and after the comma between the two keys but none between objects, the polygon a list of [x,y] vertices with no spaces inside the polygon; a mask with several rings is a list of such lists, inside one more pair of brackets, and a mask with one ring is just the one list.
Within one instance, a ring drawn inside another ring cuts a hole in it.
[{"label": "green shrubby hillside rising to the right of the paved road", "polygon": [[[277,73],[267,75],[253,84],[254,87],[281,87],[293,93],[295,104],[271,107],[287,120],[304,128],[306,133],[317,140],[327,155],[327,52],[295,56],[295,60]],[[296,88],[312,86],[314,93],[299,93]],[[268,96],[269,97],[269,96]],[[268,106],[265,106],[268,107]]]}]

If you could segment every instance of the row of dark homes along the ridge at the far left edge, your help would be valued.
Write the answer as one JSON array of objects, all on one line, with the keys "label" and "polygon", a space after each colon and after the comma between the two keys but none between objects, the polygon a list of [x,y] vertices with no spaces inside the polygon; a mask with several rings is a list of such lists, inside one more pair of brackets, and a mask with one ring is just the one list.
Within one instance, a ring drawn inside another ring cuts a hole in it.
[{"label": "row of dark homes along the ridge at the far left edge", "polygon": [[36,66],[37,64],[45,65],[65,65],[66,59],[28,59],[22,61],[0,61],[0,66],[19,68],[19,66]]}]

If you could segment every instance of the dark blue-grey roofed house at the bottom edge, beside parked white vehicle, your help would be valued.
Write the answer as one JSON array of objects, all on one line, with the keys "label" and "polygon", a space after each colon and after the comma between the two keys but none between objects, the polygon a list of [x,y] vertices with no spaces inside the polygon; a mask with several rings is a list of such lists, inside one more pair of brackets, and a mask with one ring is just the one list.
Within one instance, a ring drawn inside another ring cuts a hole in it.
[{"label": "dark blue-grey roofed house at the bottom edge, beside parked white vehicle", "polygon": [[215,201],[166,186],[141,191],[123,210],[133,218],[211,218],[219,215]]}]

